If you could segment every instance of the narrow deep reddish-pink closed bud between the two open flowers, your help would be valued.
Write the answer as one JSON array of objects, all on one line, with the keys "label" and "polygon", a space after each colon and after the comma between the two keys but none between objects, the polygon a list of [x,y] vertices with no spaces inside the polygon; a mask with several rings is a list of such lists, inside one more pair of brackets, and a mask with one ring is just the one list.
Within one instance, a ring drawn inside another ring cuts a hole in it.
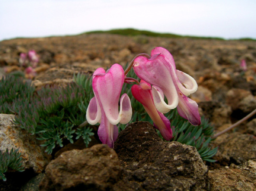
[{"label": "narrow deep reddish-pink closed bud between the two open flowers", "polygon": [[144,109],[154,122],[154,127],[160,131],[164,139],[170,141],[172,138],[170,121],[163,113],[160,113],[156,109],[153,101],[151,85],[144,80],[141,80],[140,85],[134,84],[132,86],[132,95],[143,105]]}]

